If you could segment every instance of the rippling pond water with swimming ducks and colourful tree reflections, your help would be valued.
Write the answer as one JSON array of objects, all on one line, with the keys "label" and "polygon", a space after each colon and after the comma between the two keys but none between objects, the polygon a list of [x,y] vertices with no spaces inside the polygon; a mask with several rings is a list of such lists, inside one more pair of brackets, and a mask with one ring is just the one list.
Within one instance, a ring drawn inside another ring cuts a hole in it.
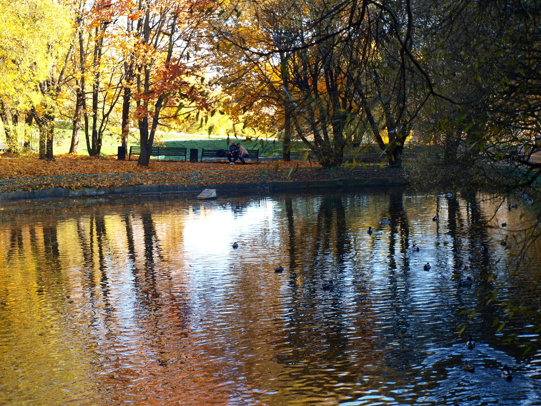
[{"label": "rippling pond water with swimming ducks and colourful tree reflections", "polygon": [[506,199],[4,205],[0,404],[541,405],[536,211]]}]

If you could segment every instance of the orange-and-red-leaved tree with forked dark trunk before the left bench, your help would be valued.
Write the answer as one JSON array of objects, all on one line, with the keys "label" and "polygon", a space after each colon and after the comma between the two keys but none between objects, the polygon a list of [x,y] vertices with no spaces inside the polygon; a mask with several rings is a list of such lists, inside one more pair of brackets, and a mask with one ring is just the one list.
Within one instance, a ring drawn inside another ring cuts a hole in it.
[{"label": "orange-and-red-leaved tree with forked dark trunk before the left bench", "polygon": [[[195,32],[208,10],[205,2],[162,0],[134,4],[129,18],[135,38],[133,59],[135,115],[141,154],[137,165],[147,166],[156,129],[163,119],[182,107],[209,108],[201,67],[190,63],[190,51],[199,38]],[[171,108],[174,108],[171,112]]]}]

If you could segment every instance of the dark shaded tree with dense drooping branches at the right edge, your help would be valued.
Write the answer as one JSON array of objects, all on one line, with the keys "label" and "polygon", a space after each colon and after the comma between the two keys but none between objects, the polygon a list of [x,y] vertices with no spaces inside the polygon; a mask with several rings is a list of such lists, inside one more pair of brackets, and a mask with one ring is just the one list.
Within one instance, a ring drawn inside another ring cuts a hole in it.
[{"label": "dark shaded tree with dense drooping branches at the right edge", "polygon": [[431,171],[441,175],[436,181],[463,184],[466,166],[469,180],[500,181],[498,171],[485,170],[487,163],[527,173],[523,184],[539,175],[531,156],[541,148],[536,139],[540,5],[438,2],[442,12],[419,21],[426,38],[424,66],[445,96],[426,106],[418,127],[425,140],[441,146],[442,153],[427,162],[445,168]]}]

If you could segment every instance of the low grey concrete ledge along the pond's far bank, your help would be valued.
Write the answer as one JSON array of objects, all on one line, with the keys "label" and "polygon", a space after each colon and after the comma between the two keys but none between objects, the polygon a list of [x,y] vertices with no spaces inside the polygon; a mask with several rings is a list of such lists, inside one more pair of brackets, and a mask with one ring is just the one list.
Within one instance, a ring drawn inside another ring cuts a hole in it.
[{"label": "low grey concrete ledge along the pond's far bank", "polygon": [[[371,187],[371,186],[404,186],[405,179],[400,178],[370,178],[370,179],[328,179],[311,181],[268,181],[247,182],[235,184],[235,191],[258,190],[262,192],[274,192],[282,190],[306,191],[307,189],[335,189],[348,187]],[[35,191],[18,191],[0,193],[0,201],[21,201],[38,199],[62,199],[143,194],[172,194],[172,193],[199,193],[204,188],[216,189],[217,192],[231,192],[232,184],[208,184],[208,185],[137,185],[122,187],[87,187],[84,189],[71,190],[67,188],[40,189]]]}]

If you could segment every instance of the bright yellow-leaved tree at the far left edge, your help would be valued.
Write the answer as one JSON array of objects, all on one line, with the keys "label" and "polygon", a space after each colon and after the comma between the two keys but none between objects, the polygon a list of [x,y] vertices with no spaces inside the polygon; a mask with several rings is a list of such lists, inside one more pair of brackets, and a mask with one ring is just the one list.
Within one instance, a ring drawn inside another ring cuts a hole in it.
[{"label": "bright yellow-leaved tree at the far left edge", "polygon": [[[19,116],[31,122],[26,117],[33,112],[32,118],[38,119],[40,128],[44,130],[40,133],[43,145],[47,141],[43,113],[45,106],[50,106],[48,110],[51,111],[56,108],[56,96],[49,92],[49,88],[53,82],[58,83],[58,64],[63,64],[65,59],[62,56],[69,51],[70,17],[64,5],[49,0],[2,1],[0,17],[3,27],[0,30],[3,61],[0,64],[3,78],[0,84],[0,116],[8,147],[16,152]],[[53,72],[56,72],[55,79],[51,80]]]}]

